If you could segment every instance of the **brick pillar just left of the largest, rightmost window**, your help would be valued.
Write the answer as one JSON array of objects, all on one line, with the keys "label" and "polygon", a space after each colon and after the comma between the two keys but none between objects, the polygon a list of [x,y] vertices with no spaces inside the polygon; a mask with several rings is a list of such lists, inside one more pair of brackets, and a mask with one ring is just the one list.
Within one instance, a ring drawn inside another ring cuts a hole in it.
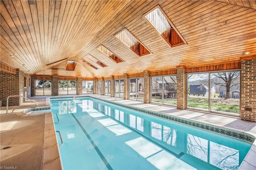
[{"label": "brick pillar just left of the largest, rightmost window", "polygon": [[185,68],[177,67],[177,109],[186,109]]}]

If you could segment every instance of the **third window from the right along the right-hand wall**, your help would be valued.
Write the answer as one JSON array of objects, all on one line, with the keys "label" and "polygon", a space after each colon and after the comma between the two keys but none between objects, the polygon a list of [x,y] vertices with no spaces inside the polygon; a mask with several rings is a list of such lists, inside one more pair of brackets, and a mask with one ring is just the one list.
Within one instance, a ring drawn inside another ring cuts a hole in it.
[{"label": "third window from the right along the right-hand wall", "polygon": [[129,79],[129,97],[130,99],[144,99],[144,78]]}]

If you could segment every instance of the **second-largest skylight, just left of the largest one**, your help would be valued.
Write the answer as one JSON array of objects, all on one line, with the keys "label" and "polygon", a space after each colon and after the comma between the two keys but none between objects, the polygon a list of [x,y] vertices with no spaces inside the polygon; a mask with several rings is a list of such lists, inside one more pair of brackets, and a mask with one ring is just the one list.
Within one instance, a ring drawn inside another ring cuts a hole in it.
[{"label": "second-largest skylight, just left of the largest one", "polygon": [[150,54],[150,51],[146,49],[146,47],[140,43],[126,28],[120,33],[116,34],[116,38],[124,43],[124,45],[130,48],[139,57]]}]

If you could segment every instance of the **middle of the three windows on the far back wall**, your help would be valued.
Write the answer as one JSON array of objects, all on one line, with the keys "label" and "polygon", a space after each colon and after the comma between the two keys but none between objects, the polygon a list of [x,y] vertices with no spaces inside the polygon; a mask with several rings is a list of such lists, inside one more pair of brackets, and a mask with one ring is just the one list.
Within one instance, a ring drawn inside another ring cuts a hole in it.
[{"label": "middle of the three windows on the far back wall", "polygon": [[76,94],[76,81],[59,80],[59,95]]}]

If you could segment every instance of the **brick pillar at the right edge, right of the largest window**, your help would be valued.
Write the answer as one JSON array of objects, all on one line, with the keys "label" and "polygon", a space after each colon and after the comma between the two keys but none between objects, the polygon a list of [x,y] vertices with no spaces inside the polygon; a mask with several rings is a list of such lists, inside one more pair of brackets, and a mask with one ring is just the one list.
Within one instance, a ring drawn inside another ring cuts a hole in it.
[{"label": "brick pillar at the right edge, right of the largest window", "polygon": [[256,122],[256,59],[241,61],[241,120]]}]

